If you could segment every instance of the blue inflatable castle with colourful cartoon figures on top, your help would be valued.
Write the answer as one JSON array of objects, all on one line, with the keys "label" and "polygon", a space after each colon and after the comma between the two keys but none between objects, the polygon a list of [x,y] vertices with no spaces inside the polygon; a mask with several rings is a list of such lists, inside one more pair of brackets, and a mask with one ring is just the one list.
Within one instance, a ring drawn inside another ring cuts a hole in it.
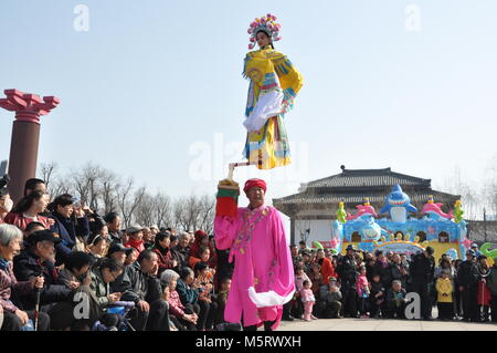
[{"label": "blue inflatable castle with colourful cartoon figures on top", "polygon": [[[390,217],[378,219],[374,207],[364,199],[358,205],[356,215],[346,214],[342,203],[338,205],[337,218],[331,222],[331,239],[338,251],[343,251],[353,245],[362,251],[373,252],[376,249],[412,255],[431,246],[435,250],[435,258],[447,253],[453,259],[464,259],[472,242],[467,239],[467,224],[463,219],[462,203],[454,204],[455,209],[445,214],[442,204],[436,204],[433,196],[424,205],[425,214],[421,219],[409,217],[410,212],[417,212],[411,205],[410,197],[399,185],[384,199],[384,207],[379,214],[389,212]],[[346,220],[347,222],[342,222]],[[488,248],[483,248],[487,249]],[[489,253],[496,256],[496,250]]]}]

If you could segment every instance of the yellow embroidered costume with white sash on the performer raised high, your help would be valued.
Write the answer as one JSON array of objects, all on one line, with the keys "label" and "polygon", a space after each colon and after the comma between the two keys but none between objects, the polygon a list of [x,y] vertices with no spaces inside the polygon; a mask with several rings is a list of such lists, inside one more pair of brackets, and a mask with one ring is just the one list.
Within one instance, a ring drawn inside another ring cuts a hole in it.
[{"label": "yellow embroidered costume with white sash on the performer raised high", "polygon": [[246,54],[243,75],[251,80],[243,123],[247,128],[244,156],[260,169],[290,164],[283,118],[303,85],[300,73],[267,45]]}]

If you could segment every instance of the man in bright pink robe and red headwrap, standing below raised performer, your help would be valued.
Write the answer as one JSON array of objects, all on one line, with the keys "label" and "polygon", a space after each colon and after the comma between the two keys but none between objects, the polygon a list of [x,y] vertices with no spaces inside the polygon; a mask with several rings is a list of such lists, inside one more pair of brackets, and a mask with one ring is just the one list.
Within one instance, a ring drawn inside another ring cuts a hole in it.
[{"label": "man in bright pink robe and red headwrap, standing below raised performer", "polygon": [[[230,249],[235,261],[224,320],[242,322],[244,330],[279,325],[283,304],[295,291],[295,277],[282,217],[264,205],[266,184],[250,179],[244,191],[248,207],[239,207],[236,219],[216,216],[214,233],[220,250]],[[243,319],[242,319],[243,318]]]}]

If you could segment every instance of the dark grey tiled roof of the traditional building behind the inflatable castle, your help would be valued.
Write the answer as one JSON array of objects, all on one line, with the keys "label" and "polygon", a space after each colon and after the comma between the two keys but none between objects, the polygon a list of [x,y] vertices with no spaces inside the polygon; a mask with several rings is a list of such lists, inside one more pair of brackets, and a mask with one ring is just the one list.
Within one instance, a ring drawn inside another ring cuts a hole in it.
[{"label": "dark grey tiled roof of the traditional building behind the inflatable castle", "polygon": [[405,174],[383,169],[346,169],[322,179],[303,185],[300,193],[283,198],[273,199],[273,205],[288,216],[295,216],[299,211],[311,209],[329,210],[330,218],[335,217],[338,203],[343,201],[346,209],[353,214],[356,206],[361,205],[364,198],[379,210],[383,206],[385,196],[392,186],[399,184],[403,191],[411,198],[411,204],[419,209],[433,195],[436,203],[452,207],[461,198],[433,190],[430,179],[417,178]]}]

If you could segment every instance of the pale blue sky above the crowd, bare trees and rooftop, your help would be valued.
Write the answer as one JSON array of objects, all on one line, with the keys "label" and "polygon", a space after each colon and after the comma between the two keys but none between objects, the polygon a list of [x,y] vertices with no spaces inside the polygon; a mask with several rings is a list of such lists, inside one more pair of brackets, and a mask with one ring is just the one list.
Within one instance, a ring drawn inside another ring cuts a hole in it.
[{"label": "pale blue sky above the crowd, bare trees and rooftop", "polygon": [[[80,3],[88,32],[73,28]],[[421,31],[405,28],[410,3]],[[40,162],[95,160],[173,197],[214,193],[241,159],[246,29],[267,12],[305,77],[286,120],[295,163],[236,179],[269,179],[273,198],[341,164],[483,178],[497,153],[493,0],[2,0],[0,89],[61,98],[42,118]],[[11,123],[0,111],[0,158]]]}]

